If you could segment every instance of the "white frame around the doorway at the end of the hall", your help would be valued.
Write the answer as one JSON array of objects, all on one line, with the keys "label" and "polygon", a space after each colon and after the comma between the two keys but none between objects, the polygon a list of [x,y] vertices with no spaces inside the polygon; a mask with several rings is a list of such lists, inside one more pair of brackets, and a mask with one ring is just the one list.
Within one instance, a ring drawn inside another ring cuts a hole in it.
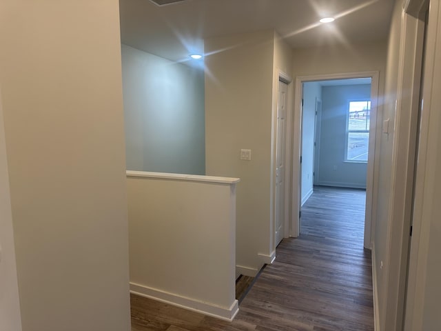
[{"label": "white frame around the doorway at the end of the hall", "polygon": [[371,78],[371,121],[369,126],[369,154],[367,162],[366,182],[366,212],[365,212],[365,248],[371,249],[371,230],[375,226],[376,196],[378,188],[378,163],[379,148],[376,148],[377,141],[380,141],[380,117],[378,113],[378,71],[345,72],[336,74],[316,74],[296,77],[294,88],[294,118],[291,123],[293,134],[292,143],[292,181],[291,181],[291,222],[289,226],[289,237],[298,237],[300,234],[300,150],[301,150],[301,121],[302,121],[302,85],[308,81],[327,81],[335,79]]}]

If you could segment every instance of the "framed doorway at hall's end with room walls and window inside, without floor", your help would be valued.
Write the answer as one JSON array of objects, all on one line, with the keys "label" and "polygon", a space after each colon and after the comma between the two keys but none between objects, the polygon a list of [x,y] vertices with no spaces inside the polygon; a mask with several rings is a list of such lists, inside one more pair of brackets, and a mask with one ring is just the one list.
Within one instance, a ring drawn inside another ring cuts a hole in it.
[{"label": "framed doorway at hall's end with room walls and window inside, without floor", "polygon": [[291,237],[314,185],[358,188],[366,190],[363,245],[371,248],[377,97],[378,72],[296,79]]}]

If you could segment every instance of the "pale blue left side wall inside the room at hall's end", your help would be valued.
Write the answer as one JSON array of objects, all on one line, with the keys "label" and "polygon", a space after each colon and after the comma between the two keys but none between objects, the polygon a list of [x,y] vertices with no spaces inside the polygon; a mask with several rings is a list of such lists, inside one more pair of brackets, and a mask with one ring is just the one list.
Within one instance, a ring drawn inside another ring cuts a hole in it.
[{"label": "pale blue left side wall inside the room at hall's end", "polygon": [[[316,101],[322,99],[322,86],[317,81],[303,84],[302,108],[302,205],[314,190],[314,141],[316,139]],[[320,146],[320,145],[318,145]],[[316,174],[317,175],[317,174]]]}]

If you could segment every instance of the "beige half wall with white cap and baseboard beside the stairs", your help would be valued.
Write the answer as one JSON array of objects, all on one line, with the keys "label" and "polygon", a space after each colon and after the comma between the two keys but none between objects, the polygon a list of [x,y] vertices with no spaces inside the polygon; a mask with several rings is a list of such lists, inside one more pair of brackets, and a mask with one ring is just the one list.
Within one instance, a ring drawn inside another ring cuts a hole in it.
[{"label": "beige half wall with white cap and baseboard beside the stairs", "polygon": [[133,292],[234,317],[237,182],[127,172]]}]

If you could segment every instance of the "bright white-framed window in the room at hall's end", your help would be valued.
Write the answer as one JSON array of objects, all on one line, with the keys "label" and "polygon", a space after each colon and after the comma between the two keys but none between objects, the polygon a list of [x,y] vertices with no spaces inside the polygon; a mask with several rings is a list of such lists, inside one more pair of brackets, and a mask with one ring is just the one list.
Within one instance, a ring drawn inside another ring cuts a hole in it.
[{"label": "bright white-framed window in the room at hall's end", "polygon": [[367,162],[371,101],[349,101],[346,161]]}]

